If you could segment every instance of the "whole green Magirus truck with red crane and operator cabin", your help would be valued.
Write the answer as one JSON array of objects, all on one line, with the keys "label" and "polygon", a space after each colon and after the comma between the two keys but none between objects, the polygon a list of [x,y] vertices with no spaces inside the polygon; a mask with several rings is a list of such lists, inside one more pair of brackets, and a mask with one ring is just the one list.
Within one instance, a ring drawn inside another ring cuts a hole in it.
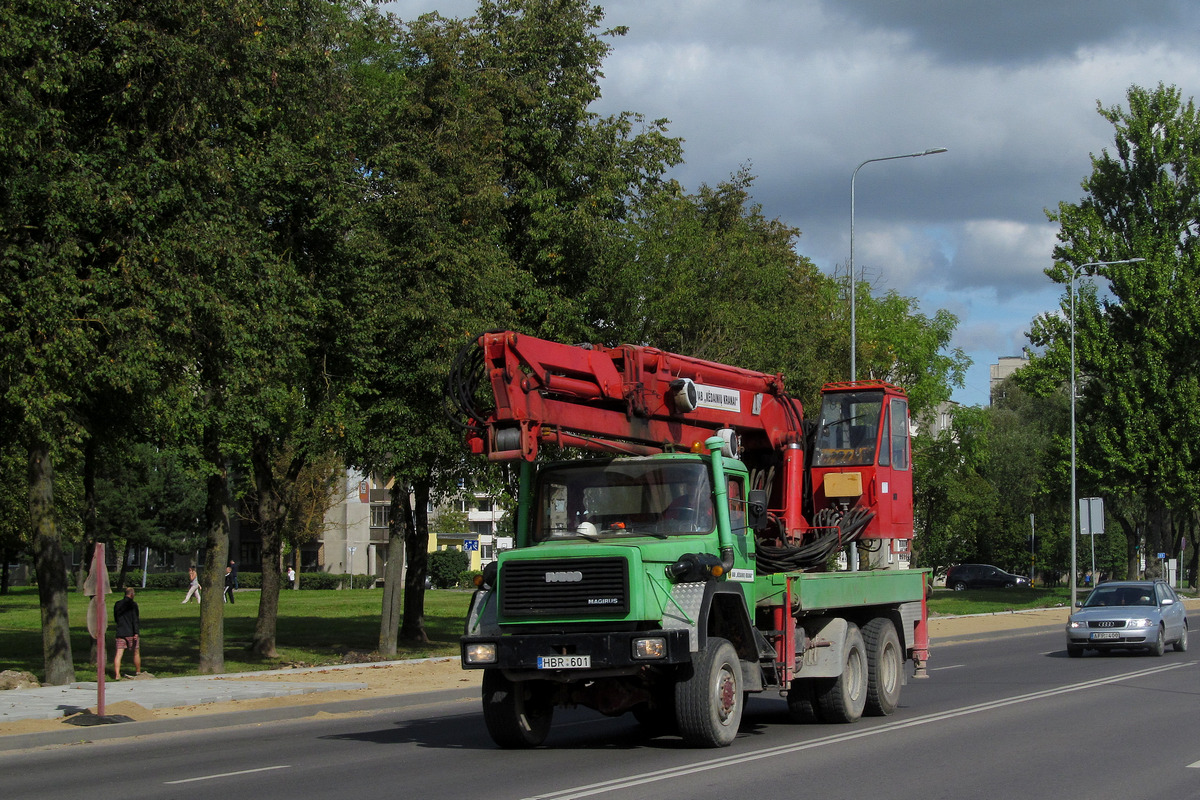
[{"label": "whole green Magirus truck with red crane and operator cabin", "polygon": [[[478,387],[493,404],[478,408]],[[892,714],[928,658],[907,402],[833,384],[804,420],[780,375],[652,348],[484,335],[449,383],[474,452],[520,465],[515,547],[462,637],[500,747],[556,706],[733,741],[746,697],[800,721]],[[592,457],[542,462],[547,446]]]}]

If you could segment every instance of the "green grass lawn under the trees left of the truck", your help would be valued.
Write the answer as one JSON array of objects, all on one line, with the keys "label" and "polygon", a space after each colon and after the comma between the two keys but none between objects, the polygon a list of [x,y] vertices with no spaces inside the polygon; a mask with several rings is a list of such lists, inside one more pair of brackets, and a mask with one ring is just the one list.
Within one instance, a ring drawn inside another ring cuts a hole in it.
[{"label": "green grass lawn under the trees left of the truck", "polygon": [[[113,654],[113,603],[108,596],[109,676]],[[89,661],[88,597],[70,594],[71,652],[76,680],[96,680],[95,656]],[[247,650],[258,615],[258,591],[239,591],[236,602],[226,604],[226,672],[252,672],[293,666],[342,663],[350,651],[371,652],[379,643],[382,594],[374,590],[302,590],[280,593],[276,630],[278,658],[258,658]],[[200,607],[181,604],[179,590],[138,590],[142,615],[142,668],[160,678],[196,675],[199,655]],[[458,637],[470,602],[469,591],[425,593],[425,630],[430,643],[421,646],[401,643],[396,658],[425,658],[458,655]],[[122,672],[132,670],[130,656]],[[0,670],[22,669],[38,678],[42,661],[41,612],[37,589],[20,587],[0,595]]]}]

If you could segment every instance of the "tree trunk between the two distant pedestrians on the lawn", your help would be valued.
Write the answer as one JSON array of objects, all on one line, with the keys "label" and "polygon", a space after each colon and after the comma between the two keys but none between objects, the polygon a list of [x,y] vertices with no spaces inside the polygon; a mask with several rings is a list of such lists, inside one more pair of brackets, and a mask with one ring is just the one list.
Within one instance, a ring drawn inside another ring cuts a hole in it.
[{"label": "tree trunk between the two distant pedestrians on the lawn", "polygon": [[200,578],[200,654],[202,674],[224,672],[224,566],[229,560],[229,483],[227,468],[217,449],[216,437],[205,433],[205,455],[216,470],[209,476],[204,516],[204,573]]}]

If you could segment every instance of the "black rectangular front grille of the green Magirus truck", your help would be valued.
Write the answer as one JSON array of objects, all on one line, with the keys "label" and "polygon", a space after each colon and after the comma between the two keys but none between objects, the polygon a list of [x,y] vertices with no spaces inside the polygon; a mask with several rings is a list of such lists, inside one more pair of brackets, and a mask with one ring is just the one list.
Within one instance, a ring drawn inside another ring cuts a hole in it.
[{"label": "black rectangular front grille of the green Magirus truck", "polygon": [[509,561],[500,570],[505,616],[624,614],[629,610],[625,559]]}]

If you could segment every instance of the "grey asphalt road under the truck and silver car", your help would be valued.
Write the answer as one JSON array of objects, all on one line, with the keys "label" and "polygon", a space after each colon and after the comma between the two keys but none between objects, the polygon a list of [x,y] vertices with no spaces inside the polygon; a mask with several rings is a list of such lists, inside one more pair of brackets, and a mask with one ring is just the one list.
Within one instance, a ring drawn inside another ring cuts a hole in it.
[{"label": "grey asphalt road under the truck and silver car", "polygon": [[[1198,620],[1193,619],[1193,630]],[[1196,654],[1067,658],[1061,631],[935,650],[892,717],[787,722],[751,700],[733,746],[644,739],[631,717],[560,712],[545,748],[496,750],[462,692],[304,720],[0,753],[7,800],[215,796],[487,800],[755,796],[955,800],[1200,794]],[[419,699],[418,699],[419,698]],[[85,733],[80,738],[85,738]]]}]

